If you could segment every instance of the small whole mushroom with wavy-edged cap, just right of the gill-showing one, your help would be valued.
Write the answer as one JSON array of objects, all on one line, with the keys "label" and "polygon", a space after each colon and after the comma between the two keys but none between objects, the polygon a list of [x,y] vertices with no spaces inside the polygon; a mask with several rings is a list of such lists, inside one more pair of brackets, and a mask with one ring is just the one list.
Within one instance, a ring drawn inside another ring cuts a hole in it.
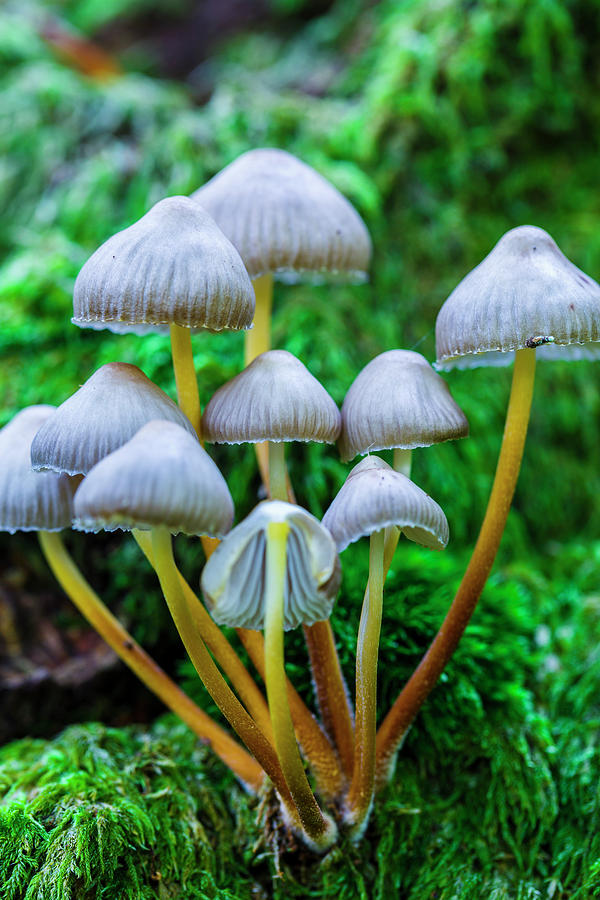
[{"label": "small whole mushroom with wavy-edged cap, just right of the gill-showing one", "polygon": [[356,465],[323,516],[341,552],[363,536],[370,538],[369,585],[356,645],[356,739],[354,772],[344,817],[355,839],[366,828],[375,787],[377,658],[383,612],[385,529],[401,528],[429,549],[448,543],[442,509],[421,488],[378,456]]}]

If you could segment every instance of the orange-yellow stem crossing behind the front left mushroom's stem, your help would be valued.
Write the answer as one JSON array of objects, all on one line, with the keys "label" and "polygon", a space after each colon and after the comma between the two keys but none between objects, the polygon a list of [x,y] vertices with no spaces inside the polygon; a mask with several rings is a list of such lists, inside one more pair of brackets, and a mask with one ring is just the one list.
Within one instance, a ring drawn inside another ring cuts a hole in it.
[{"label": "orange-yellow stem crossing behind the front left mushroom's stem", "polygon": [[[152,568],[154,568],[152,538],[147,531],[140,531],[139,529],[134,529],[132,534],[142,553]],[[179,570],[177,570],[177,577],[190,616],[193,619],[202,640],[206,643],[217,663],[229,677],[240,700],[258,727],[264,732],[270,742],[273,743],[273,731],[271,728],[271,719],[269,718],[269,708],[256,682],[252,679],[247,668],[221,629],[212,620]]]}]

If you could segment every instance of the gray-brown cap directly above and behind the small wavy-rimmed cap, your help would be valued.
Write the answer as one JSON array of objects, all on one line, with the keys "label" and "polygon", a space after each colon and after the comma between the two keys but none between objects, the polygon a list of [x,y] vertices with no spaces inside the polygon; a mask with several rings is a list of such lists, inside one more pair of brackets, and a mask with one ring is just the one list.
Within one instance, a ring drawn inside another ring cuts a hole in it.
[{"label": "gray-brown cap directly above and behind the small wavy-rimmed cap", "polygon": [[350,385],[342,406],[340,455],[348,462],[358,453],[429,447],[468,433],[463,411],[425,357],[388,350]]}]

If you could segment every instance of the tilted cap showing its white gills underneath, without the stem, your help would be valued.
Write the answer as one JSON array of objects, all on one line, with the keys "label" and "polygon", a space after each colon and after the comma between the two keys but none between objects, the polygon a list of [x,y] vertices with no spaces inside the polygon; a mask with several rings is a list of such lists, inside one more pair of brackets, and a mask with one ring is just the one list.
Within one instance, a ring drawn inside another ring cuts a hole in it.
[{"label": "tilted cap showing its white gills underneath, without the stem", "polygon": [[340,583],[333,538],[309,512],[281,500],[265,500],[240,522],[212,554],[202,590],[218,625],[259,630],[264,626],[266,529],[287,522],[284,628],[313,625],[331,614]]}]

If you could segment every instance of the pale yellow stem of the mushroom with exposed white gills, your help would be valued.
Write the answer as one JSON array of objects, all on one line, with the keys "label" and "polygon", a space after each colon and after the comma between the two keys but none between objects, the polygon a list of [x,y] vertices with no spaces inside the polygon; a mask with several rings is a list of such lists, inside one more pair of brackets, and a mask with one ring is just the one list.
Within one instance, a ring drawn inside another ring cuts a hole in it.
[{"label": "pale yellow stem of the mushroom with exposed white gills", "polygon": [[289,525],[267,525],[265,591],[265,678],[275,747],[290,793],[309,842],[318,849],[331,846],[336,837],[333,822],[321,812],[304,772],[285,684],[283,607]]}]

